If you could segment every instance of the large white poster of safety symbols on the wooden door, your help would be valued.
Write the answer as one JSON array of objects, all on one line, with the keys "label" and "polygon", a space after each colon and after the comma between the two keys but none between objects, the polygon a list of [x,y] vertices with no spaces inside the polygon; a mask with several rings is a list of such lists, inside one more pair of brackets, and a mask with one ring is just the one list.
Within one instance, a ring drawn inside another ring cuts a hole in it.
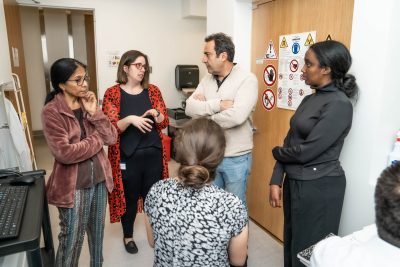
[{"label": "large white poster of safety symbols on the wooden door", "polygon": [[304,66],[304,56],[316,41],[316,36],[316,32],[312,31],[279,37],[278,108],[295,110],[303,98],[312,93],[304,83],[301,68]]}]

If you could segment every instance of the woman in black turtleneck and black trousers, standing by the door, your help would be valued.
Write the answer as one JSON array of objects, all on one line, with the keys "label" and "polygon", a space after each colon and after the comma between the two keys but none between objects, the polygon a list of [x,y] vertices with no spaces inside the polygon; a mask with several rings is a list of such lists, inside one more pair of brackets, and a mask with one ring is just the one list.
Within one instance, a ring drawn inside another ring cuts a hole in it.
[{"label": "woman in black turtleneck and black trousers, standing by the door", "polygon": [[350,98],[358,94],[355,77],[347,74],[351,55],[342,43],[315,43],[304,61],[305,83],[315,94],[303,99],[283,146],[272,150],[269,202],[281,206],[283,183],[285,267],[303,266],[298,252],[338,233],[346,187],[339,156],[352,123]]}]

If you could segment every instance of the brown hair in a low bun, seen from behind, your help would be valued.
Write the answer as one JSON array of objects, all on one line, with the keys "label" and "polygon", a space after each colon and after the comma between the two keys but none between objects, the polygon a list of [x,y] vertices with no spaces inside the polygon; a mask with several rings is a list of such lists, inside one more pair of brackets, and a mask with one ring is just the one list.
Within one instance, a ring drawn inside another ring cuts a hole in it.
[{"label": "brown hair in a low bun, seen from behind", "polygon": [[185,124],[174,141],[181,183],[198,189],[213,181],[225,146],[224,130],[216,122],[200,118]]}]

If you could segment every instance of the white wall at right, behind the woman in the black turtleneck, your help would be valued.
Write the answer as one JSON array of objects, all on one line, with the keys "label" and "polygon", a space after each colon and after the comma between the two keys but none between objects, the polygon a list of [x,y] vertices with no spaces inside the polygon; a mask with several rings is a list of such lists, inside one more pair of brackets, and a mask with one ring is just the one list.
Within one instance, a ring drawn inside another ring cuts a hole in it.
[{"label": "white wall at right, behind the woman in the black turtleneck", "polygon": [[376,178],[387,165],[400,128],[396,64],[400,62],[399,10],[397,0],[379,3],[355,0],[351,71],[357,78],[361,95],[341,157],[347,188],[340,234],[348,234],[374,221]]}]

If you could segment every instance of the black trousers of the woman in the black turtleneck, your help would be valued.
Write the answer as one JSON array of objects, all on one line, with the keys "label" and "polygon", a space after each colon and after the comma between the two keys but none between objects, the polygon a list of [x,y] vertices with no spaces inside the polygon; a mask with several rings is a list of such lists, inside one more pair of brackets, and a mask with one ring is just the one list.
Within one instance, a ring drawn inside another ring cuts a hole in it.
[{"label": "black trousers of the woman in the black turtleneck", "polygon": [[338,234],[346,177],[308,181],[286,177],[283,186],[285,267],[304,267],[298,252],[329,233]]}]

